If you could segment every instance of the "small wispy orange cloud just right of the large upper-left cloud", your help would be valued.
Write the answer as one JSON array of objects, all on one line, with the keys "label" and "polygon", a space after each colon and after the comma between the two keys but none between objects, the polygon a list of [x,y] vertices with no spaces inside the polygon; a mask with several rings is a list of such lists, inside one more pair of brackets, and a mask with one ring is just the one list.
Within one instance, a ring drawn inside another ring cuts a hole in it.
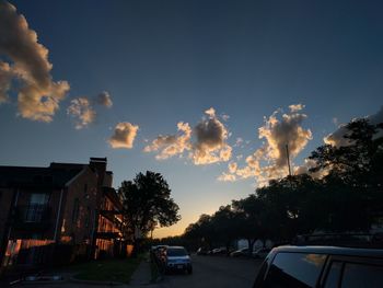
[{"label": "small wispy orange cloud just right of the large upper-left cloud", "polygon": [[88,127],[94,122],[96,112],[86,97],[73,99],[67,108],[67,114],[74,118],[76,129]]}]

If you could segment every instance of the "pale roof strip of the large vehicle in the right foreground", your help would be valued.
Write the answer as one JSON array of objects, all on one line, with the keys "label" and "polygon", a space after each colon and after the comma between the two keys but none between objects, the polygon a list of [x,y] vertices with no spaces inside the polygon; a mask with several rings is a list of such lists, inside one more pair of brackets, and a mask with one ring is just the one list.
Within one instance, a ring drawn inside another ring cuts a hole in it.
[{"label": "pale roof strip of the large vehicle in the right foreground", "polygon": [[313,253],[313,254],[332,254],[346,256],[367,256],[383,258],[383,249],[359,249],[359,247],[340,247],[340,246],[278,246],[272,253]]}]

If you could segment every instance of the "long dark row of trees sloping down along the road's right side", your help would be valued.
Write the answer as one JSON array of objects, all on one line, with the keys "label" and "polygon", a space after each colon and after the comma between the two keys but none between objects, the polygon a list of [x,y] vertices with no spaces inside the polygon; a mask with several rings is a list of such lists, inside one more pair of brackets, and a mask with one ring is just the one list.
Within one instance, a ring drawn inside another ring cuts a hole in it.
[{"label": "long dark row of trees sloping down along the road's right side", "polygon": [[382,128],[352,120],[344,136],[348,145],[318,147],[309,157],[315,163],[309,173],[272,180],[213,215],[201,215],[182,237],[162,242],[229,247],[247,239],[253,246],[257,239],[291,242],[314,231],[369,232],[383,221]]}]

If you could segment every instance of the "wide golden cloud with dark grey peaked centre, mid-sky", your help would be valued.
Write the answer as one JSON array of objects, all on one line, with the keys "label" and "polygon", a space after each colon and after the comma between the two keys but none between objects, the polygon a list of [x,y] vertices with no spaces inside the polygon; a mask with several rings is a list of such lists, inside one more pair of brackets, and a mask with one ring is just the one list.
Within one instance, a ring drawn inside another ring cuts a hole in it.
[{"label": "wide golden cloud with dark grey peaked centre, mid-sky", "polygon": [[188,152],[187,157],[196,165],[229,161],[232,148],[227,143],[228,129],[218,119],[214,108],[205,111],[205,114],[194,129],[188,123],[181,122],[177,135],[160,135],[143,151],[159,152],[155,157],[159,160],[183,157]]}]

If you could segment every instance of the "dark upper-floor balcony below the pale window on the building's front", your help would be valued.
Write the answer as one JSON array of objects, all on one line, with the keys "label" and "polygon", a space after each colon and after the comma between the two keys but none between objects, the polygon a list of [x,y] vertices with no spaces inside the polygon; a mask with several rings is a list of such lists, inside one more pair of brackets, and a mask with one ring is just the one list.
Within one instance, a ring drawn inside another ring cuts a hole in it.
[{"label": "dark upper-floor balcony below the pale window on the building's front", "polygon": [[50,224],[50,208],[48,205],[32,204],[15,208],[14,227],[23,230],[47,229]]}]

